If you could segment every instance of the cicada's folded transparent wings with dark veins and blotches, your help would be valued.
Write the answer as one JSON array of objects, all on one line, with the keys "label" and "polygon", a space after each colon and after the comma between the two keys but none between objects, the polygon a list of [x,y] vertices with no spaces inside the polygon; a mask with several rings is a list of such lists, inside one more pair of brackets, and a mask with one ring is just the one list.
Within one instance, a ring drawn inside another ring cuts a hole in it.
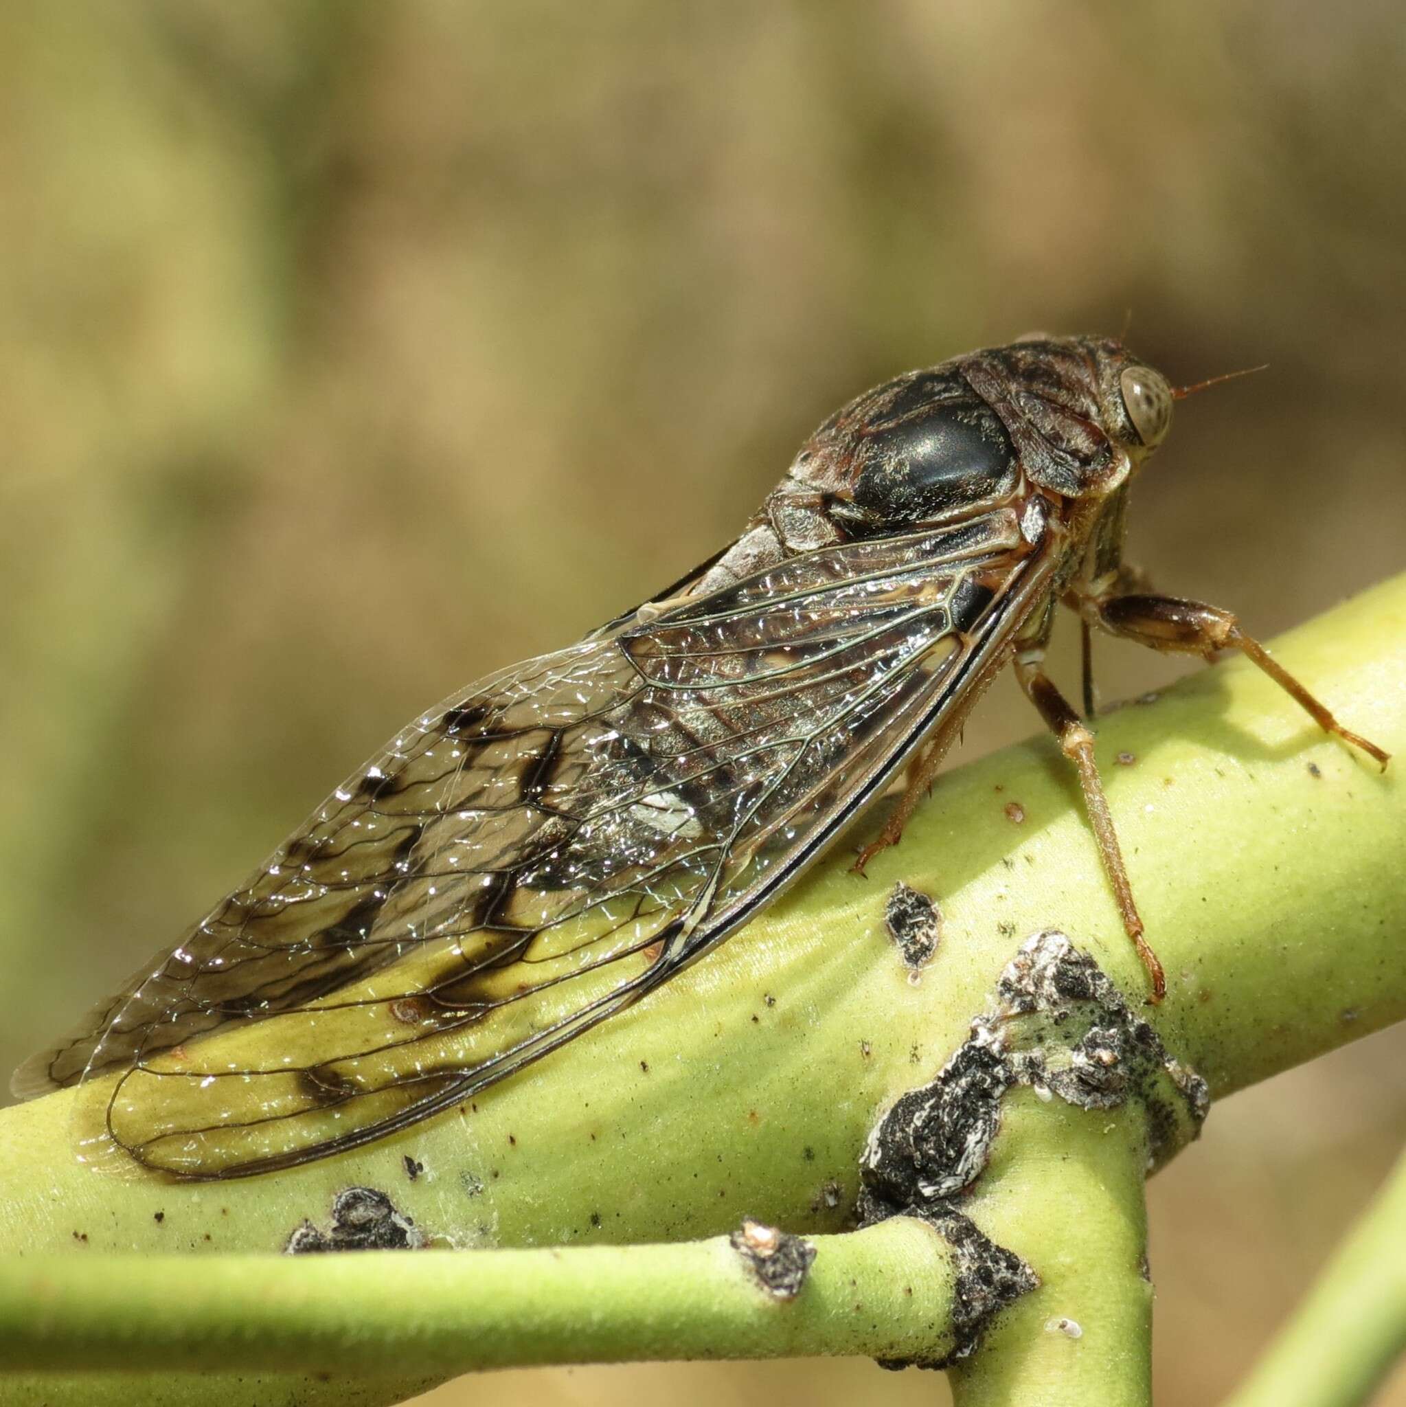
[{"label": "cicada's folded transparent wings with dark veins and blotches", "polygon": [[1010,637],[998,509],[818,549],[505,670],[337,788],[17,1092],[118,1072],[103,1135],[288,1166],[457,1103],[745,922]]}]

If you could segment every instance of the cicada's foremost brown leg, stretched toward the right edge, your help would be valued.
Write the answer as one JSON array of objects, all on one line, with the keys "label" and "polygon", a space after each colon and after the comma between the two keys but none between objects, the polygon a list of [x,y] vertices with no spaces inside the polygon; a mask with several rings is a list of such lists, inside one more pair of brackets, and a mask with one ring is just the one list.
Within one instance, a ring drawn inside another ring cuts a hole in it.
[{"label": "cicada's foremost brown leg, stretched toward the right edge", "polygon": [[1209,606],[1202,601],[1182,601],[1180,597],[1157,597],[1140,592],[1084,597],[1080,613],[1111,635],[1136,640],[1170,654],[1199,654],[1206,660],[1218,650],[1240,650],[1303,708],[1326,733],[1334,733],[1344,743],[1360,747],[1386,770],[1391,758],[1375,743],[1343,727],[1327,706],[1319,702],[1258,640],[1240,629],[1240,622],[1229,611]]}]

